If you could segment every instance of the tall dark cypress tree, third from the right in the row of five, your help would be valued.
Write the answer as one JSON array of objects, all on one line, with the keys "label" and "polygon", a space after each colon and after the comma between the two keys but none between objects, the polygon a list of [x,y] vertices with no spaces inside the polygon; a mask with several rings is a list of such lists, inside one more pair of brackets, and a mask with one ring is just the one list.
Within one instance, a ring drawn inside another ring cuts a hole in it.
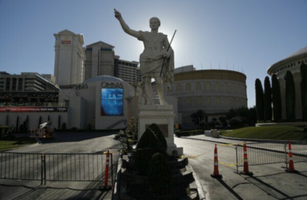
[{"label": "tall dark cypress tree, third from the right in the row of five", "polygon": [[272,102],[274,121],[281,120],[281,95],[276,74],[272,75]]}]

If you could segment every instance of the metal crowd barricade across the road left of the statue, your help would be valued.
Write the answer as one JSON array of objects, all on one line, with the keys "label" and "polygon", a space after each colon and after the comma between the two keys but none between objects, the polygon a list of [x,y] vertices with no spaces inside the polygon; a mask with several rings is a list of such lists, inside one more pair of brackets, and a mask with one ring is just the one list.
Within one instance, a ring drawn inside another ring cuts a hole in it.
[{"label": "metal crowd barricade across the road left of the statue", "polygon": [[[111,182],[113,185],[113,155]],[[103,181],[106,154],[0,152],[0,179]]]}]

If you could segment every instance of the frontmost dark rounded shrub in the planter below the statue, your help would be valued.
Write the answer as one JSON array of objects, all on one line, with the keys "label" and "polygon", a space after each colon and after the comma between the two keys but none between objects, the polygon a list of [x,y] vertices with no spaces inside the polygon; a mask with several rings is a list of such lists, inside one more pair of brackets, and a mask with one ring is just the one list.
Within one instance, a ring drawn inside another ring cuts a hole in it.
[{"label": "frontmost dark rounded shrub in the planter below the statue", "polygon": [[148,185],[151,191],[165,194],[172,188],[172,176],[168,160],[161,153],[152,155],[148,165]]}]

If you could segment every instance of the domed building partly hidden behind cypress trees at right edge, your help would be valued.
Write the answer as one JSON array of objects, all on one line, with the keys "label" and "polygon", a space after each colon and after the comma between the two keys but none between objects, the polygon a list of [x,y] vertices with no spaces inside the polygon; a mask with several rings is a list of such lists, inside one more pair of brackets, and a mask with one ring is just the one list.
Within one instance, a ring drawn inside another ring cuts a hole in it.
[{"label": "domed building partly hidden behind cypress trees at right edge", "polygon": [[284,58],[268,69],[268,74],[272,76],[276,74],[279,85],[280,85],[280,94],[281,94],[281,118],[286,119],[286,82],[284,80],[284,76],[286,75],[287,71],[289,70],[294,79],[295,84],[295,115],[296,119],[302,118],[302,103],[301,103],[301,89],[300,89],[300,82],[301,82],[301,74],[300,74],[300,65],[301,63],[307,63],[307,47],[304,47],[287,58]]}]

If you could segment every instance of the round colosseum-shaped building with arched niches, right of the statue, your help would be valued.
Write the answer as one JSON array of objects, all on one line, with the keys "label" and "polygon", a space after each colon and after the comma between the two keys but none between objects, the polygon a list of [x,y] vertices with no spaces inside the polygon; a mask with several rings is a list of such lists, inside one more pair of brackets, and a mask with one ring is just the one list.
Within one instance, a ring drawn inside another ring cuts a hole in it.
[{"label": "round colosseum-shaped building with arched niches, right of the statue", "polygon": [[199,109],[211,121],[224,116],[231,108],[247,107],[246,76],[235,71],[183,66],[175,69],[174,82],[165,95],[176,97],[182,126],[193,127],[190,116]]}]

